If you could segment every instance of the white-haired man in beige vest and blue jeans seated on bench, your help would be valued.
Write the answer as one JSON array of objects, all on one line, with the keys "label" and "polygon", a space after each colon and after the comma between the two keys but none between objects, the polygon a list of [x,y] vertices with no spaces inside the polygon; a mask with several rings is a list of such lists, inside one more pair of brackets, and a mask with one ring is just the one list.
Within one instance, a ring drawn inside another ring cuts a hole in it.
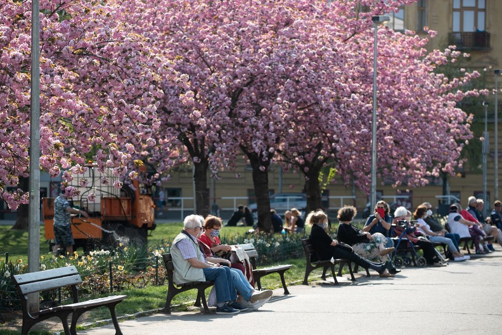
[{"label": "white-haired man in beige vest and blue jeans seated on bench", "polygon": [[[262,306],[272,295],[271,290],[255,290],[241,271],[216,263],[223,259],[204,257],[197,243],[203,223],[202,216],[188,215],[183,221],[183,230],[172,241],[171,256],[175,268],[173,278],[175,283],[214,281],[217,314],[236,314]],[[245,306],[237,302],[236,291],[242,296],[242,303]]]}]

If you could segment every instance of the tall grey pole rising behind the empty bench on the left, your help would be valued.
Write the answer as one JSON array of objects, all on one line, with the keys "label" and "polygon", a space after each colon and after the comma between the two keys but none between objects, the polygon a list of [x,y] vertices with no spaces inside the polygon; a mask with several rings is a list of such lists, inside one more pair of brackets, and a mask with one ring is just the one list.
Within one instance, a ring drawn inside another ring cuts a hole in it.
[{"label": "tall grey pole rising behind the empty bench on the left", "polygon": [[[40,23],[38,0],[31,2],[30,198],[28,205],[28,271],[40,271]],[[28,297],[38,310],[38,294]]]}]

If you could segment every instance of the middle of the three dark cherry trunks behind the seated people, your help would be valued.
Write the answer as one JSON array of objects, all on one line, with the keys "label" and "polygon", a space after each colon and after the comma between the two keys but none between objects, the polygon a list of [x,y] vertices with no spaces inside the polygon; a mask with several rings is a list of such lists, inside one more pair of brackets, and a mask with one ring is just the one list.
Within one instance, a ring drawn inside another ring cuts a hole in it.
[{"label": "middle of the three dark cherry trunks behind the seated people", "polygon": [[[272,219],[270,215],[270,198],[268,196],[268,166],[270,165],[270,160],[262,162],[260,165],[261,159],[258,154],[247,152],[244,149],[242,151],[246,154],[253,167],[253,185],[258,211],[258,227],[260,231],[271,233]],[[265,170],[261,171],[260,166],[264,166]]]}]

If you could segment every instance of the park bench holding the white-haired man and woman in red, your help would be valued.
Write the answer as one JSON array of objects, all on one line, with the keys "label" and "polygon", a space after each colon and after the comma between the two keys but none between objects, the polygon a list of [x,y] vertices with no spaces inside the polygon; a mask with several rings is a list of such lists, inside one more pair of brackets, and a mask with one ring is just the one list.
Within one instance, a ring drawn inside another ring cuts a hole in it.
[{"label": "park bench holding the white-haired man and woman in red", "polygon": [[[286,281],[284,279],[284,272],[287,271],[292,267],[292,265],[286,264],[286,265],[278,265],[278,266],[273,266],[273,267],[268,267],[268,268],[263,268],[263,269],[257,269],[256,268],[256,258],[258,257],[258,251],[254,247],[252,243],[247,243],[247,244],[240,244],[237,245],[244,249],[246,251],[250,263],[253,266],[253,278],[255,280],[255,283],[258,287],[259,290],[261,290],[261,277],[264,277],[268,274],[272,273],[278,273],[281,277],[281,282],[282,282],[282,288],[284,289],[284,294],[289,294],[289,291],[287,290],[286,286]],[[170,314],[170,305],[173,297],[175,297],[178,293],[188,291],[191,289],[197,289],[197,300],[195,302],[195,306],[200,307],[201,302],[202,305],[204,306],[204,313],[207,313],[209,311],[207,307],[207,302],[206,302],[206,296],[204,290],[208,287],[211,287],[214,285],[213,281],[206,281],[206,282],[191,282],[191,283],[184,283],[184,284],[174,284],[172,281],[173,278],[173,271],[174,271],[174,266],[172,265],[172,257],[170,254],[163,254],[162,255],[164,259],[164,264],[166,266],[167,270],[167,279],[168,279],[168,287],[167,287],[167,300],[166,300],[166,305],[164,307],[164,313]]]}]

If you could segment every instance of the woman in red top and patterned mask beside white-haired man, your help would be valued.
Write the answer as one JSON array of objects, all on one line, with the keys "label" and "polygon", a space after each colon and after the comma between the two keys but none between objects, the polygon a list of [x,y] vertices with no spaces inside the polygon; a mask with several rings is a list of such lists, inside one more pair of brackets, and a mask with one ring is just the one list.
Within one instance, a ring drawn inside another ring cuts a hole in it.
[{"label": "woman in red top and patterned mask beside white-haired man", "polygon": [[[205,257],[219,257],[225,252],[230,252],[232,249],[226,244],[221,244],[220,235],[222,227],[221,218],[208,215],[204,220],[203,233],[199,236],[198,242],[204,251]],[[229,261],[228,261],[229,262]],[[233,269],[240,270],[245,276],[249,284],[255,287],[255,281],[253,279],[253,268],[248,262],[244,263],[231,263],[230,267]]]}]

